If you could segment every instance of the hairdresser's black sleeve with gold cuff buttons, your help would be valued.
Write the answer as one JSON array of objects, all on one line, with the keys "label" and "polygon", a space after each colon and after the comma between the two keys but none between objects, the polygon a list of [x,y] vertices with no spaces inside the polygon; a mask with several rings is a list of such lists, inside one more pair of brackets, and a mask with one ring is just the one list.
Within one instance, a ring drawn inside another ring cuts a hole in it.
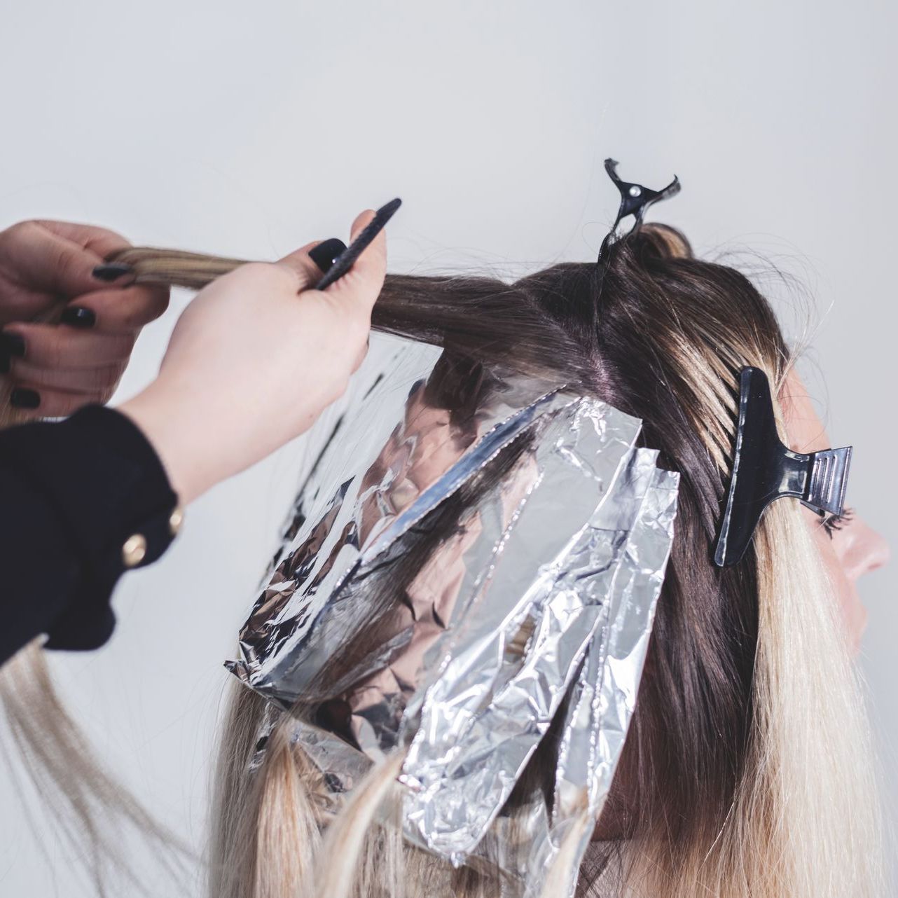
[{"label": "hairdresser's black sleeve with gold cuff buttons", "polygon": [[112,588],[178,524],[162,462],[125,415],[88,406],[0,432],[0,664],[42,633],[48,648],[101,646]]}]

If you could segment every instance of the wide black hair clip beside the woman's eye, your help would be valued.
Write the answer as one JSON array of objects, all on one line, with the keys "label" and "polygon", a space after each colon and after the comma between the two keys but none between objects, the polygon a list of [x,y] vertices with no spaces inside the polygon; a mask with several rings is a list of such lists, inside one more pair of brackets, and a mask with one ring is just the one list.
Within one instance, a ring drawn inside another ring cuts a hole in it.
[{"label": "wide black hair clip beside the woman's eye", "polygon": [[743,368],[733,474],[714,563],[729,568],[743,557],[764,509],[779,497],[796,497],[820,515],[841,515],[850,462],[850,446],[804,454],[782,445],[767,375]]}]

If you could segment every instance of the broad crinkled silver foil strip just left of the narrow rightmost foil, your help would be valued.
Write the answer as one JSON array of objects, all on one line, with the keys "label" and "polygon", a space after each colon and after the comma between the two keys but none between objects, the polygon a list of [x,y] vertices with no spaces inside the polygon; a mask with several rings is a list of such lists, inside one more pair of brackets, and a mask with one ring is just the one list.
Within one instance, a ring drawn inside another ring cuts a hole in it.
[{"label": "broad crinkled silver foil strip just left of the narrow rightmost foil", "polygon": [[656,453],[634,449],[638,433],[594,400],[556,415],[490,577],[425,662],[436,680],[406,711],[406,820],[453,863],[505,804],[602,619],[655,470]]}]

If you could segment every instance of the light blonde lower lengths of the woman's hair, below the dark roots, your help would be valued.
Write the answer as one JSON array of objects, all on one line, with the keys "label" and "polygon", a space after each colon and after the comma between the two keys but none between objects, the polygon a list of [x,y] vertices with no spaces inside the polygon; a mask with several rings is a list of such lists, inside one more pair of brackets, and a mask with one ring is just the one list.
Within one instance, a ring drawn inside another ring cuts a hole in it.
[{"label": "light blonde lower lengths of the woman's hair, below the dark roots", "polygon": [[[616,869],[606,869],[594,887],[577,894],[884,894],[863,693],[802,514],[797,505],[771,506],[756,538],[761,574],[756,710],[749,760],[726,826],[713,834],[710,847],[621,841]],[[320,804],[327,791],[321,772],[290,744],[289,715],[269,737],[260,769],[248,772],[266,705],[234,683],[217,773],[210,896],[506,894],[499,874],[454,870],[403,846],[398,826],[375,820],[377,807],[390,800],[400,752],[371,771],[335,818]],[[325,827],[329,832],[322,840]],[[557,872],[558,878],[548,880],[546,898],[567,895],[568,877],[576,878],[570,870]]]}]

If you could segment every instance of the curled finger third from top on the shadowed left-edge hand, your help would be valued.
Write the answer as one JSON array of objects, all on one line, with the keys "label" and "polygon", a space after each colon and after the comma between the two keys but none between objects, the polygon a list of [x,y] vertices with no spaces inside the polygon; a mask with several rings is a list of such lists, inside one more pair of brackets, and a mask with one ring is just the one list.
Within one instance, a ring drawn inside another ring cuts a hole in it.
[{"label": "curled finger third from top on the shadowed left-edge hand", "polygon": [[[66,325],[8,324],[4,344],[11,356],[10,371],[22,361],[40,368],[92,368],[127,362],[134,348],[133,332],[102,333]],[[10,340],[10,335],[15,340]],[[31,369],[29,369],[31,370]]]}]

